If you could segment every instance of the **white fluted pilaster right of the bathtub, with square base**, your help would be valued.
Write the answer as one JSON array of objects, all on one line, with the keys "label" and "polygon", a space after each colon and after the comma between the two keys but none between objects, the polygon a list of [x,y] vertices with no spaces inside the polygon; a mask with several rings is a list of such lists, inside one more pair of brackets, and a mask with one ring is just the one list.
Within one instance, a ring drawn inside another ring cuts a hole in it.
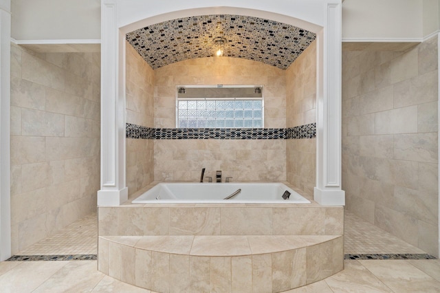
[{"label": "white fluted pilaster right of the bathtub, with square base", "polygon": [[316,187],[319,204],[344,205],[341,175],[342,4],[327,4],[326,27],[318,33]]}]

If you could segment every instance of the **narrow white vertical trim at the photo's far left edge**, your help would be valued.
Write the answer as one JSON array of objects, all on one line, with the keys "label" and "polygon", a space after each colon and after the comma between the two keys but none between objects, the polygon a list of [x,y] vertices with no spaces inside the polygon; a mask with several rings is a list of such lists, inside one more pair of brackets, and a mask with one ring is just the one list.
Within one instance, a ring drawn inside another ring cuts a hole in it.
[{"label": "narrow white vertical trim at the photo's far left edge", "polygon": [[0,261],[11,257],[10,61],[11,14],[0,8]]}]

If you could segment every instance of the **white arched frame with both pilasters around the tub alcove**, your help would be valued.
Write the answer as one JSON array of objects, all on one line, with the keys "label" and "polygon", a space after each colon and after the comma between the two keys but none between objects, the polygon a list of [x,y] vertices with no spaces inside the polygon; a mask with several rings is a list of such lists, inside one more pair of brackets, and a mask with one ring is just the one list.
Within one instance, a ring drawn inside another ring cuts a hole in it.
[{"label": "white arched frame with both pilasters around the tub alcove", "polygon": [[[226,14],[230,12],[282,21],[316,33],[318,146],[314,196],[316,201],[322,204],[344,204],[344,194],[340,189],[340,33],[338,34],[340,32],[340,4],[325,3],[324,5],[321,3],[320,5],[307,6],[305,3],[296,3],[297,8],[305,8],[303,11],[301,9],[293,10],[292,6],[288,7],[292,15],[301,16],[303,19],[312,19],[315,23],[289,16],[287,13],[280,14],[254,8],[226,6],[200,8],[196,4],[186,5],[186,9],[168,12],[165,12],[166,9],[160,8],[159,10],[164,13],[153,15],[155,12],[152,11],[148,12],[151,15],[146,17],[145,14],[141,15],[142,12],[135,12],[136,6],[121,7],[122,3],[118,3],[118,6],[113,4],[108,3],[102,7],[102,21],[109,23],[109,29],[106,30],[106,25],[103,25],[102,85],[105,86],[102,87],[102,188],[98,192],[98,205],[118,205],[124,202],[128,195],[125,177],[125,117],[123,114],[126,92],[125,34],[160,21],[206,13]],[[282,6],[282,4],[278,4],[276,9],[283,11]],[[188,7],[191,8],[188,9]],[[244,4],[243,7],[245,7]],[[327,14],[321,14],[321,18],[311,17],[310,12],[316,12],[317,9],[327,12]],[[116,10],[122,11],[122,13],[116,14]],[[327,24],[327,27],[324,24]],[[111,98],[109,99],[109,97]],[[329,101],[329,98],[333,101]],[[107,99],[109,102],[106,102]]]}]

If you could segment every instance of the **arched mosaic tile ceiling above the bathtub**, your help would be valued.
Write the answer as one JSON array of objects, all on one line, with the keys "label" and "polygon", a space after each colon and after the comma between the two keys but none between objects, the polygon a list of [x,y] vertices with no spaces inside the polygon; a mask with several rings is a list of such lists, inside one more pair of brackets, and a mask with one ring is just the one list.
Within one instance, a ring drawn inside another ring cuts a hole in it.
[{"label": "arched mosaic tile ceiling above the bathtub", "polygon": [[223,56],[287,69],[316,34],[268,19],[228,14],[174,19],[126,34],[126,40],[153,69],[214,56],[218,37],[226,40]]}]

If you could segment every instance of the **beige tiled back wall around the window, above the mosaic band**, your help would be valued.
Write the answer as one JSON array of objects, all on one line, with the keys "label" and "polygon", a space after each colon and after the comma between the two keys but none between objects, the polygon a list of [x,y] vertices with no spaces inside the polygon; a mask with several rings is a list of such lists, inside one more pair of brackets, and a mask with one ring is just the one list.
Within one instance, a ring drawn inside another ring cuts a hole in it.
[{"label": "beige tiled back wall around the window, above the mosaic band", "polygon": [[265,128],[284,128],[285,71],[241,58],[195,58],[155,70],[156,128],[175,128],[176,85],[264,85]]}]

